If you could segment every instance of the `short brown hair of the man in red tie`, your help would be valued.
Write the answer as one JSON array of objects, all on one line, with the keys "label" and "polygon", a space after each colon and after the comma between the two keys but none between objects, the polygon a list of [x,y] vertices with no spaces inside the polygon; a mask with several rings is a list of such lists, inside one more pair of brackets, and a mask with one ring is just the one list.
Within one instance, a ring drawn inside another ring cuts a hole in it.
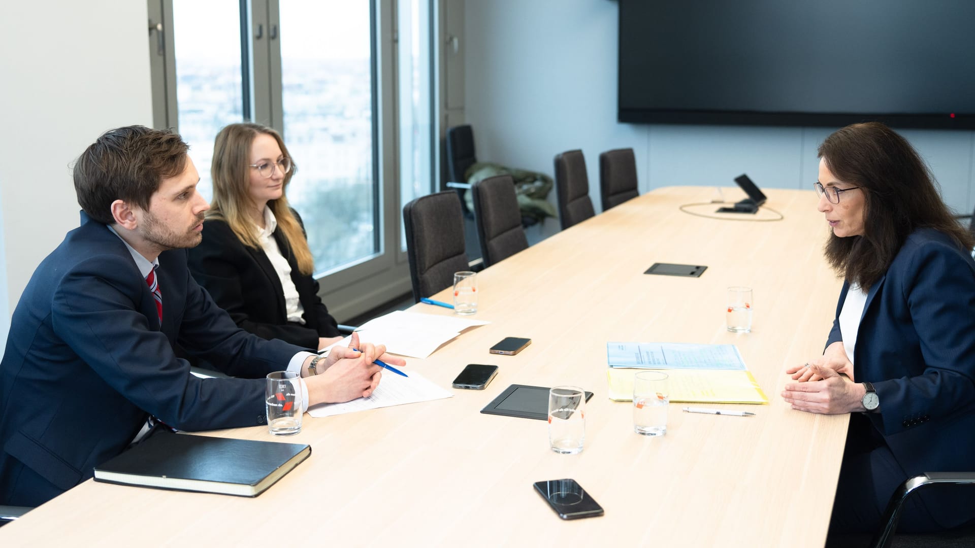
[{"label": "short brown hair of the man in red tie", "polygon": [[109,130],[78,157],[74,191],[88,216],[112,224],[115,200],[149,209],[149,199],[163,178],[186,169],[189,145],[169,130],[128,126]]}]

